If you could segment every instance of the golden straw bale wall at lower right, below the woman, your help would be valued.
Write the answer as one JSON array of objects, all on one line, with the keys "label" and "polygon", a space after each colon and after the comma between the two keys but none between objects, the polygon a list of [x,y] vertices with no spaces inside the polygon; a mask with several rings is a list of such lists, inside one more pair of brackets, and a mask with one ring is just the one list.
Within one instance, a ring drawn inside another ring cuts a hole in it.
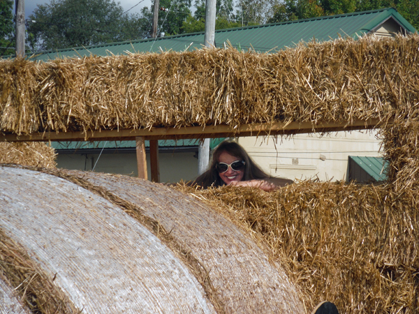
[{"label": "golden straw bale wall at lower right, below the woman", "polygon": [[329,300],[339,313],[418,313],[417,189],[309,181],[274,193],[179,188],[263,237],[308,309]]}]

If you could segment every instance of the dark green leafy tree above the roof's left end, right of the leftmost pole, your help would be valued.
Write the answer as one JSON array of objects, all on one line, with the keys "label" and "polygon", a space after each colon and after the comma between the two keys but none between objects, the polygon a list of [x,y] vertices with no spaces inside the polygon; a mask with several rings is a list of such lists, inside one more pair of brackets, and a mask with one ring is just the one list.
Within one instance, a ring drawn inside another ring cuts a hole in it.
[{"label": "dark green leafy tree above the roof's left end, right of the leftmost pole", "polygon": [[111,0],[51,0],[29,17],[29,33],[38,47],[55,50],[137,39],[138,16],[124,14]]}]

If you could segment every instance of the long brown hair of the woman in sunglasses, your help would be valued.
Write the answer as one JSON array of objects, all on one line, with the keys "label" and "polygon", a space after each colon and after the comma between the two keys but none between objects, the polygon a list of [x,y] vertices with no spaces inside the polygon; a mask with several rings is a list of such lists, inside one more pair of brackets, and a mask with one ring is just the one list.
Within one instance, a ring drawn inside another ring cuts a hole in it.
[{"label": "long brown hair of the woman in sunglasses", "polygon": [[244,165],[244,175],[242,181],[270,178],[270,175],[263,172],[263,170],[261,170],[260,167],[249,157],[243,147],[236,142],[226,140],[221,142],[219,146],[214,149],[212,162],[208,170],[196,178],[192,184],[198,184],[198,186],[202,186],[203,188],[226,185],[216,170],[216,164],[218,163],[219,156],[224,151],[231,156],[235,156],[237,159],[244,160],[244,163],[246,163]]}]

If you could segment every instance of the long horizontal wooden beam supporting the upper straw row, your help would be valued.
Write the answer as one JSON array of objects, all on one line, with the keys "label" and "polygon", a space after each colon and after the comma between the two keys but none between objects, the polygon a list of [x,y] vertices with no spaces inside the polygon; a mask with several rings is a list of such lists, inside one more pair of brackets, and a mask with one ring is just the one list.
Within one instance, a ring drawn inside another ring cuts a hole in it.
[{"label": "long horizontal wooden beam supporting the upper straw row", "polygon": [[265,135],[288,135],[296,133],[335,132],[339,130],[365,130],[380,126],[379,119],[367,121],[355,120],[352,123],[344,122],[291,122],[284,124],[274,122],[272,124],[243,124],[237,128],[231,126],[188,126],[183,128],[151,128],[137,130],[94,130],[82,132],[45,132],[31,135],[0,134],[0,141],[6,142],[36,142],[36,141],[84,141],[84,140],[135,140],[135,137],[145,137],[147,140],[169,140],[203,137],[241,137],[241,136],[265,136]]}]

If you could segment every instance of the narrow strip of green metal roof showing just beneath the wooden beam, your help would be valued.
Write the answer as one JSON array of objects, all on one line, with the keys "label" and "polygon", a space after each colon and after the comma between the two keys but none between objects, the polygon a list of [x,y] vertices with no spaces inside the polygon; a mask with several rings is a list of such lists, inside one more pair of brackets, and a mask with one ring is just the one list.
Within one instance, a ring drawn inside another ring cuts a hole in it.
[{"label": "narrow strip of green metal roof showing just beneath the wooden beam", "polygon": [[[214,149],[224,138],[214,138],[210,142],[210,149]],[[159,140],[159,147],[191,147],[198,146],[198,140]],[[135,141],[100,141],[100,142],[51,142],[54,149],[124,149],[134,148]],[[145,141],[145,147],[149,147],[149,141]]]}]

